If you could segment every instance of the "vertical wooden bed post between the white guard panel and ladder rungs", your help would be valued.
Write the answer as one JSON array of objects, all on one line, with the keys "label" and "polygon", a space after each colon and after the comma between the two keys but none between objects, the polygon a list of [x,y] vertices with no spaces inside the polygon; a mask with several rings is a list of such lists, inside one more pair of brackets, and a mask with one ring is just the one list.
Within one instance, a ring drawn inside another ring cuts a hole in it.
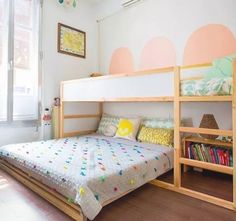
[{"label": "vertical wooden bed post between the white guard panel and ladder rungs", "polygon": [[181,121],[181,106],[180,106],[180,67],[176,66],[174,68],[174,84],[175,84],[175,96],[174,96],[174,186],[181,186],[181,144],[180,144],[180,121]]}]

